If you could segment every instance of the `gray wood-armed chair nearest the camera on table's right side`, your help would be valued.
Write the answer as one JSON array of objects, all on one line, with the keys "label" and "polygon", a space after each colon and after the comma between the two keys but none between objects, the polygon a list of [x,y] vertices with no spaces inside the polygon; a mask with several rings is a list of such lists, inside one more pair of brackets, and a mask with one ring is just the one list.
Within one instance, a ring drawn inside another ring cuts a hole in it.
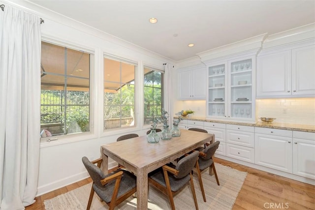
[{"label": "gray wood-armed chair nearest the camera on table's right side", "polygon": [[198,164],[199,152],[194,151],[186,155],[178,161],[176,167],[164,165],[161,168],[149,173],[149,183],[155,186],[158,190],[168,196],[172,210],[175,210],[173,196],[182,189],[190,181],[193,200],[196,210],[198,210],[195,188],[193,186],[191,171]]}]

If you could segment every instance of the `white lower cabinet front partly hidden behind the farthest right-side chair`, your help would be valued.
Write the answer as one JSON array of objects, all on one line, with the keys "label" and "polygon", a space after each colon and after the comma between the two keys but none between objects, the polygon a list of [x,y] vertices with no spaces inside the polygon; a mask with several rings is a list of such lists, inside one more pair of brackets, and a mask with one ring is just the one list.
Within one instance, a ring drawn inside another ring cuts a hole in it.
[{"label": "white lower cabinet front partly hidden behind the farthest right-side chair", "polygon": [[225,124],[217,122],[204,122],[204,129],[211,134],[215,134],[215,141],[220,141],[216,154],[226,155]]}]

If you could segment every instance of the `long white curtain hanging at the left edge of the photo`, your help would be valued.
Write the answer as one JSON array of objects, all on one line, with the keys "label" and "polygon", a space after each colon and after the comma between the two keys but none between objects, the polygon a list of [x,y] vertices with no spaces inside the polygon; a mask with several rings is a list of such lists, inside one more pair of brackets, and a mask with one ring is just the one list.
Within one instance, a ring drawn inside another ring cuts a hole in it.
[{"label": "long white curtain hanging at the left edge of the photo", "polygon": [[37,191],[40,19],[0,10],[0,209],[24,209]]}]

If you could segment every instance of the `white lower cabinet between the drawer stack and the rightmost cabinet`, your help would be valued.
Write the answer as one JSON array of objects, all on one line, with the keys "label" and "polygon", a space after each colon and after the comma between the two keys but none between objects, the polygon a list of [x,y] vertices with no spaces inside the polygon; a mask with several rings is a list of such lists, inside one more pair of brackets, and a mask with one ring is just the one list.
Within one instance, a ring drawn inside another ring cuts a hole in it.
[{"label": "white lower cabinet between the drawer stack and the rightmost cabinet", "polygon": [[292,131],[255,127],[255,164],[292,173]]}]

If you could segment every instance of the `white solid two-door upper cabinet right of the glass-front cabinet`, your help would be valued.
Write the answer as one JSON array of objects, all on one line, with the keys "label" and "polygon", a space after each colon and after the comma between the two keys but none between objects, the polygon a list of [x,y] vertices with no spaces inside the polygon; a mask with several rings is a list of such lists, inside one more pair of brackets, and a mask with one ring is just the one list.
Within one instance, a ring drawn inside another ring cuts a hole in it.
[{"label": "white solid two-door upper cabinet right of the glass-front cabinet", "polygon": [[257,97],[315,95],[315,45],[307,44],[261,51],[257,57]]}]

